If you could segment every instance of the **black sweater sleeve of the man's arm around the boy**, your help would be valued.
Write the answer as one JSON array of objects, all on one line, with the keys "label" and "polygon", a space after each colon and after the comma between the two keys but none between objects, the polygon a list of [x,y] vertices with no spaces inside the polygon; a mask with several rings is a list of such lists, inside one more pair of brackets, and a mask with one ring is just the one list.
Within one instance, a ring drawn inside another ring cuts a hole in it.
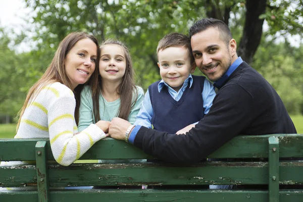
[{"label": "black sweater sleeve of the man's arm around the boy", "polygon": [[241,86],[224,86],[215,97],[210,112],[186,135],[142,126],[134,145],[167,162],[199,162],[249,126],[254,119],[253,103],[250,93]]}]

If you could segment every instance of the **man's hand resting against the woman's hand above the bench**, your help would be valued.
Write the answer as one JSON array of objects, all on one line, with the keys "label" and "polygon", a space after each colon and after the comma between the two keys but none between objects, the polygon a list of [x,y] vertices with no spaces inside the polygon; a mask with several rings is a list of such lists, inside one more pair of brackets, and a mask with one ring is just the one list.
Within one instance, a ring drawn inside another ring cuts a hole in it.
[{"label": "man's hand resting against the woman's hand above the bench", "polygon": [[131,124],[121,118],[115,117],[111,121],[109,134],[112,138],[125,140],[125,133]]}]

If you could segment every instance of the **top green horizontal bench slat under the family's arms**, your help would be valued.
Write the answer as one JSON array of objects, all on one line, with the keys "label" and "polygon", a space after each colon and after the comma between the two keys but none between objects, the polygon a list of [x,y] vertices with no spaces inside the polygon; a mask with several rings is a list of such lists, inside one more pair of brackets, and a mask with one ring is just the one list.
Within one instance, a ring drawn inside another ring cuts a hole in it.
[{"label": "top green horizontal bench slat under the family's arms", "polygon": [[[209,158],[267,158],[268,138],[273,135],[234,137]],[[303,157],[302,134],[277,134],[280,157]],[[39,140],[47,141],[48,160],[54,160],[48,139],[0,139],[0,161],[35,161],[32,152]],[[105,138],[96,142],[80,159],[153,159],[130,143]]]}]

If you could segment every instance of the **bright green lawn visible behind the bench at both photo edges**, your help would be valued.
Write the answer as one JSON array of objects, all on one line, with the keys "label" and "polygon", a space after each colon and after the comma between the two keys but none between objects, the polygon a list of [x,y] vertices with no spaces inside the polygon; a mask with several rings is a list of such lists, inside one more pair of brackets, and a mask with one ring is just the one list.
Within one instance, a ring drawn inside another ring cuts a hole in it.
[{"label": "bright green lawn visible behind the bench at both photo edges", "polygon": [[[303,115],[290,116],[297,133],[303,134]],[[16,124],[0,124],[0,138],[14,138],[16,134]]]}]

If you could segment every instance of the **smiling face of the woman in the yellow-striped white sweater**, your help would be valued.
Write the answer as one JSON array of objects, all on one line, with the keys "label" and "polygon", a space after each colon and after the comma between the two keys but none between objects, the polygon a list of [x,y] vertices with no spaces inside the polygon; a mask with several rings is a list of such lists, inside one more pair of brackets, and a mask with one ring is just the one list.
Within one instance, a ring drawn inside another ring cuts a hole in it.
[{"label": "smiling face of the woman in the yellow-striped white sweater", "polygon": [[84,38],[79,40],[67,54],[64,66],[73,89],[78,84],[85,83],[95,70],[97,48],[91,39]]}]

